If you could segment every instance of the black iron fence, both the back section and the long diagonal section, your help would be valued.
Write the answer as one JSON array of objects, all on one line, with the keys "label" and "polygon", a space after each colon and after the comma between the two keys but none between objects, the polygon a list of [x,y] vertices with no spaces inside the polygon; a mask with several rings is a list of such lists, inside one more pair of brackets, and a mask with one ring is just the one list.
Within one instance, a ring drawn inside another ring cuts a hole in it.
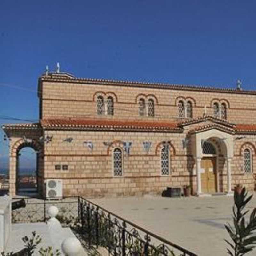
[{"label": "black iron fence, both the back section and the long diagonal section", "polygon": [[83,197],[60,201],[25,199],[25,203],[25,207],[22,204],[23,207],[12,210],[13,223],[44,222],[49,218],[48,208],[56,205],[60,222],[71,223],[89,249],[103,247],[114,256],[196,256]]}]

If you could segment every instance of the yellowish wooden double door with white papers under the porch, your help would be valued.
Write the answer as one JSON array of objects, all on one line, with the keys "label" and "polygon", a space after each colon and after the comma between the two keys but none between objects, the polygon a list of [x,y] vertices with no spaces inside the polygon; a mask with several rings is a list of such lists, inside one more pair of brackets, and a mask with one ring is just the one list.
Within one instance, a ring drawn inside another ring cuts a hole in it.
[{"label": "yellowish wooden double door with white papers under the porch", "polygon": [[203,193],[217,191],[216,157],[203,157],[201,160],[201,189]]}]

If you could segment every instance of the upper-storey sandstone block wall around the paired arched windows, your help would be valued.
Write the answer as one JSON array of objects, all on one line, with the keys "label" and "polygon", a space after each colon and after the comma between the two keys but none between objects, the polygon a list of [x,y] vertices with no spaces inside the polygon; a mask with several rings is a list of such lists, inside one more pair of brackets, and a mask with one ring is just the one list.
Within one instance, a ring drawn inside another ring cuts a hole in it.
[{"label": "upper-storey sandstone block wall around the paired arched windows", "polygon": [[[114,100],[114,116],[97,115],[96,99],[101,95]],[[155,116],[153,120],[175,120],[178,117],[178,101],[190,101],[193,106],[193,117],[200,117],[206,108],[207,115],[213,114],[212,105],[225,102],[228,121],[231,123],[254,123],[256,95],[245,95],[228,92],[199,92],[192,90],[173,90],[118,86],[108,84],[77,84],[60,82],[43,82],[42,118],[77,117],[77,118],[115,118],[115,119],[148,119],[139,116],[139,99],[153,99]]]}]

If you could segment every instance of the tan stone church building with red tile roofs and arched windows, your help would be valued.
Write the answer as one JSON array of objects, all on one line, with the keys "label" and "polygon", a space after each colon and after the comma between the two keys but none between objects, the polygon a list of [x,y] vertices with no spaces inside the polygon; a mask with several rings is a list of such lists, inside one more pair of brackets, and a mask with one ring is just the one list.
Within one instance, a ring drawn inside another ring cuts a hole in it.
[{"label": "tan stone church building with red tile roofs and arched windows", "polygon": [[37,187],[64,196],[142,196],[189,185],[195,195],[254,190],[256,91],[39,77],[39,123],[6,124],[10,193],[18,153],[37,153]]}]

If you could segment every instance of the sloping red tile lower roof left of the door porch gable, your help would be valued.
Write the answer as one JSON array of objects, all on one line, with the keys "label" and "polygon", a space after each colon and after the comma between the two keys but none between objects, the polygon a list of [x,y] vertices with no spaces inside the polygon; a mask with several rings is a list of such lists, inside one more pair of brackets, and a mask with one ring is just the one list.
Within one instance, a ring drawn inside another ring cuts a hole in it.
[{"label": "sloping red tile lower roof left of the door porch gable", "polygon": [[45,129],[182,131],[177,123],[138,120],[43,119],[41,125]]}]

